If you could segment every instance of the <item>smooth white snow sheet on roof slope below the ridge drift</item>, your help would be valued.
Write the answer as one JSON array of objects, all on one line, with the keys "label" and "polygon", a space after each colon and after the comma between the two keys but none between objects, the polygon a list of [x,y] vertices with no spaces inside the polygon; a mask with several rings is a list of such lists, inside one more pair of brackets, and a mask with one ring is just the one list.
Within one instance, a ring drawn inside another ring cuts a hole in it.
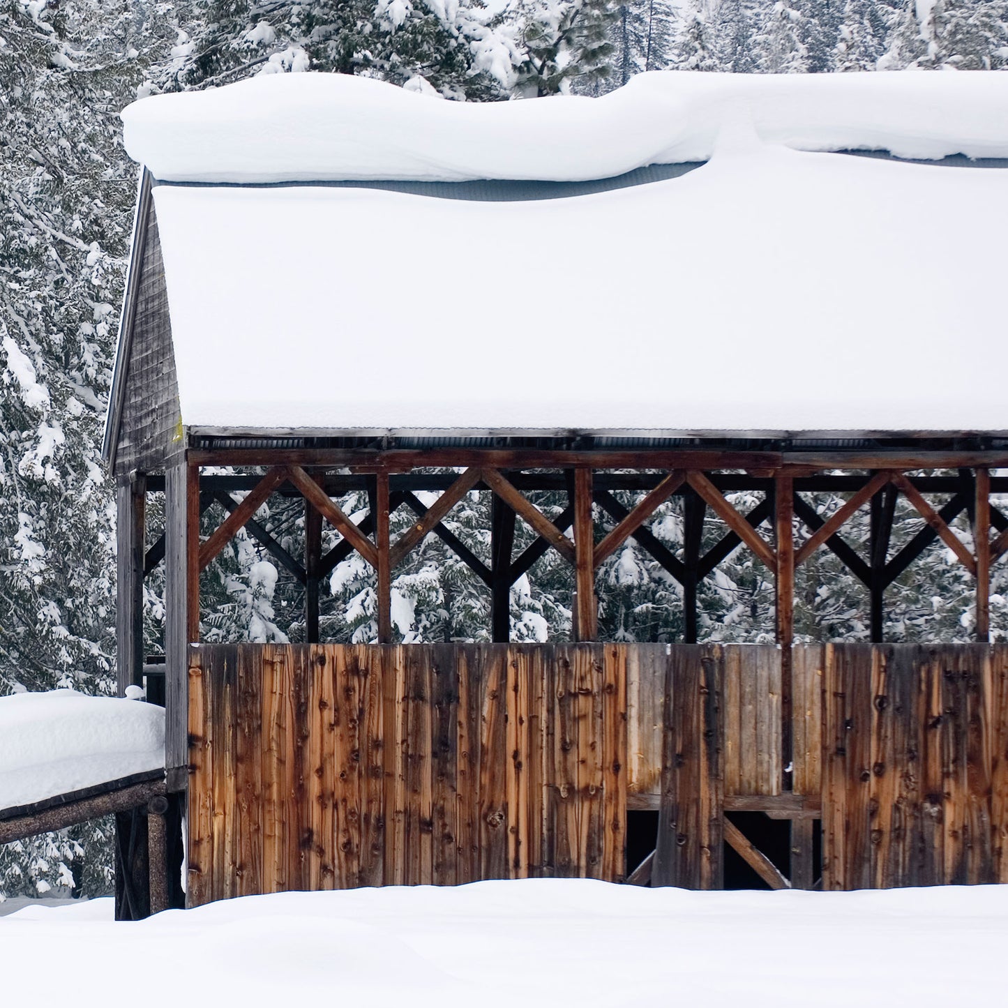
[{"label": "smooth white snow sheet on roof slope below the ridge drift", "polygon": [[1008,429],[985,383],[1008,364],[1008,170],[741,131],[681,177],[570,199],[154,203],[192,426]]}]

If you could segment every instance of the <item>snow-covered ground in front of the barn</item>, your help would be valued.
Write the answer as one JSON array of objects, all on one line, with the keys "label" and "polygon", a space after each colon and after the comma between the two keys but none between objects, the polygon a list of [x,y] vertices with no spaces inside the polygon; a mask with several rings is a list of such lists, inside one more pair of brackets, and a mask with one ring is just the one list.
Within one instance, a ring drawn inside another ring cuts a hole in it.
[{"label": "snow-covered ground in front of the barn", "polygon": [[1006,997],[1008,886],[694,893],[531,880],[247,897],[138,924],[111,915],[111,900],[95,900],[0,919],[4,1003],[106,1005],[117,990],[153,1006],[377,1008]]}]

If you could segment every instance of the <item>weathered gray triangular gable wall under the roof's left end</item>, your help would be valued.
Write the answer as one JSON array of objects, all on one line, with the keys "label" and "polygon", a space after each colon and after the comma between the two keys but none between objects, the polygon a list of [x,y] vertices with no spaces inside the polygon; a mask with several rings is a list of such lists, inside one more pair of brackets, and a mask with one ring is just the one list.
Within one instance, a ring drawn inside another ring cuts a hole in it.
[{"label": "weathered gray triangular gable wall under the roof's left end", "polygon": [[151,201],[126,370],[116,474],[161,470],[181,453],[178,384],[157,218]]}]

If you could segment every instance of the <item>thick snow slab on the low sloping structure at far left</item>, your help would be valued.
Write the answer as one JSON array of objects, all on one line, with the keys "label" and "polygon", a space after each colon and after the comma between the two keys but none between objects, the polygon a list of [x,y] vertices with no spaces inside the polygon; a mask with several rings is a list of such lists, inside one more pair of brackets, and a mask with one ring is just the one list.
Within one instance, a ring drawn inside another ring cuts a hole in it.
[{"label": "thick snow slab on the low sloping structure at far left", "polygon": [[73,689],[0,697],[0,809],[163,766],[163,708]]}]

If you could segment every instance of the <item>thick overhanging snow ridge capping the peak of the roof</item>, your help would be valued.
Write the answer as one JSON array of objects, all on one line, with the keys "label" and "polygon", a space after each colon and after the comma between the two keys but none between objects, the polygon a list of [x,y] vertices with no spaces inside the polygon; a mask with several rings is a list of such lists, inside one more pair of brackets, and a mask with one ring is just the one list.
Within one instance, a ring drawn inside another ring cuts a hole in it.
[{"label": "thick overhanging snow ridge capping the peak of the roof", "polygon": [[604,98],[447,102],[360,77],[277,74],[123,112],[156,178],[584,179],[702,161],[726,121],[802,150],[1008,157],[1008,75],[641,74]]}]

